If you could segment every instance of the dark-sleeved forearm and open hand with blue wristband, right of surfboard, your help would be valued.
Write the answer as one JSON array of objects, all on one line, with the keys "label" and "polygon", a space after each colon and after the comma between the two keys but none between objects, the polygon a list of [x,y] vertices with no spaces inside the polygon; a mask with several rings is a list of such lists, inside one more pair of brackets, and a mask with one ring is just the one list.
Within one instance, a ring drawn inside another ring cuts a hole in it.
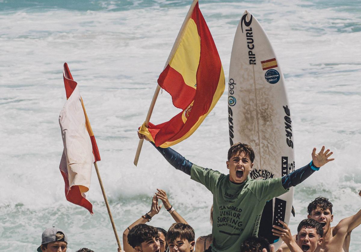
[{"label": "dark-sleeved forearm and open hand with blue wristband, right of surfboard", "polygon": [[329,149],[325,151],[325,146],[322,146],[322,149],[319,153],[316,153],[316,148],[313,148],[312,161],[308,165],[282,177],[283,188],[288,189],[291,186],[296,186],[302,183],[311,174],[313,174],[313,172],[318,171],[321,166],[332,160],[335,160],[334,158],[329,158],[332,153],[333,152],[330,152]]}]

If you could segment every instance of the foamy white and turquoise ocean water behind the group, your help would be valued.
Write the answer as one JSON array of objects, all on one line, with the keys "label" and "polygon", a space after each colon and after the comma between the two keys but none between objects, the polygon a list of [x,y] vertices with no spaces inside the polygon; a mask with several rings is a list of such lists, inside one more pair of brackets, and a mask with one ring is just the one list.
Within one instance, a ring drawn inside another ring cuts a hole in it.
[{"label": "foamy white and turquoise ocean water behind the group", "polygon": [[[65,103],[62,65],[69,64],[98,143],[98,162],[120,238],[149,211],[156,188],[193,226],[209,234],[212,195],[174,170],[145,143],[138,167],[136,129],[146,116],[191,1],[0,0],[0,251],[36,251],[45,228],[68,234],[68,251],[116,251],[95,171],[87,198],[94,215],[66,201],[58,170],[58,115]],[[268,33],[291,104],[296,167],[326,145],[335,161],[295,188],[296,217],[319,195],[334,203],[334,224],[361,208],[361,5],[358,0],[200,1],[228,77],[236,26],[244,10]],[[227,92],[199,129],[174,149],[193,163],[227,172]],[[151,121],[178,110],[159,95]],[[149,223],[165,229],[164,210]],[[361,227],[350,251],[360,251]]]}]

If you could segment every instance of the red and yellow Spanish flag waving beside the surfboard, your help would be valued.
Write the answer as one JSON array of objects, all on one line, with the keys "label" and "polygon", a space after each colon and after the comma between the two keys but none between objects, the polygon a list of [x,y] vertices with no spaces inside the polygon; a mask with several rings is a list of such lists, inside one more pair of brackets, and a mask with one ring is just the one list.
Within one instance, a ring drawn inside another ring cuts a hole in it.
[{"label": "red and yellow Spanish flag waving beside the surfboard", "polygon": [[158,78],[173,105],[182,112],[168,122],[140,127],[156,146],[166,148],[188,138],[212,111],[225,89],[225,76],[216,45],[196,4],[169,64]]}]

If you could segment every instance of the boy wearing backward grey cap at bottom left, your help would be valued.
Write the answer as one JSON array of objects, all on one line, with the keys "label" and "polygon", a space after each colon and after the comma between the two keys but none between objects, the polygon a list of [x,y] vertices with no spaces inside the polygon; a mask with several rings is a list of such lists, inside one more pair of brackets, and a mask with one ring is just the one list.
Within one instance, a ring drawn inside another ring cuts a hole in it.
[{"label": "boy wearing backward grey cap at bottom left", "polygon": [[52,227],[44,230],[42,234],[42,245],[38,252],[66,252],[68,237],[61,229]]}]

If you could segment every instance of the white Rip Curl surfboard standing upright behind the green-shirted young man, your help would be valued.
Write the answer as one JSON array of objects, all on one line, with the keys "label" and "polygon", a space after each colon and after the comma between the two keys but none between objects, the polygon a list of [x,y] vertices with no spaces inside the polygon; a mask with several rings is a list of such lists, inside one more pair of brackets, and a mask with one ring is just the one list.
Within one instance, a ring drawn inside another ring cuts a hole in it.
[{"label": "white Rip Curl surfboard standing upright behind the green-shirted young man", "polygon": [[[293,129],[282,70],[266,32],[247,10],[233,41],[228,82],[230,144],[251,145],[255,161],[252,179],[281,177],[294,170]],[[266,203],[258,236],[276,248],[272,235],[277,220],[290,221],[293,188]]]}]

